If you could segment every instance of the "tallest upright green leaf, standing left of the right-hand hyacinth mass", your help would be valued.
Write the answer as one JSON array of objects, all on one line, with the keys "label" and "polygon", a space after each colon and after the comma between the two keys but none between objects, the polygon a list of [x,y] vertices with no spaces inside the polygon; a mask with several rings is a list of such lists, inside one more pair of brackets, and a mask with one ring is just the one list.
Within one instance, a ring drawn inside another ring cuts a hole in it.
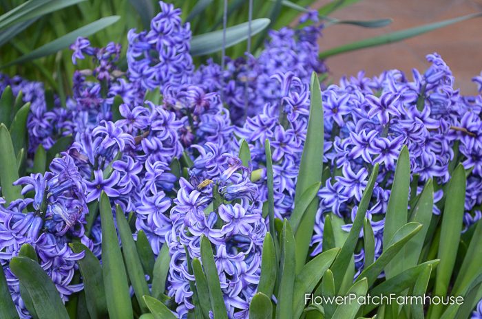
[{"label": "tallest upright green leaf, standing left of the right-hand hyacinth mass", "polygon": [[[300,203],[300,198],[308,188],[322,181],[324,139],[323,104],[318,76],[314,72],[311,74],[310,95],[308,131],[306,133],[306,142],[300,163],[300,173],[298,173],[297,177],[295,203]],[[295,208],[295,215],[291,217],[295,220],[300,220],[300,224],[295,230],[296,272],[300,272],[306,261],[306,256],[308,256],[318,203],[319,200],[315,197],[306,210],[302,211]],[[302,217],[297,216],[298,214],[302,214]]]}]

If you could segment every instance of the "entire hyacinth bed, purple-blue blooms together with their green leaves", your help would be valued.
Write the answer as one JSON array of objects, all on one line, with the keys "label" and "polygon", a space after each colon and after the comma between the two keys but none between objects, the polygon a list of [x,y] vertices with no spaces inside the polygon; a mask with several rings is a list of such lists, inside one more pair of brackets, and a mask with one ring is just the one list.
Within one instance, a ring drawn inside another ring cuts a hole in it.
[{"label": "entire hyacinth bed, purple-blue blooms together with their green leaves", "polygon": [[384,318],[303,312],[305,294],[392,291],[465,296],[427,318],[482,318],[482,95],[437,53],[319,85],[316,14],[196,67],[180,13],[160,2],[125,57],[78,38],[65,105],[0,74],[2,318]]}]

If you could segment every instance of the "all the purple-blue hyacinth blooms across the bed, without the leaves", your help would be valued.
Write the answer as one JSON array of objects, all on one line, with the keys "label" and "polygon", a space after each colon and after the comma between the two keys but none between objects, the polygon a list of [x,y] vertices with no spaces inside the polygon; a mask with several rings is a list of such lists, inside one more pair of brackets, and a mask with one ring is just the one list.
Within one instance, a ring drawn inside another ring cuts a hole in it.
[{"label": "all the purple-blue hyacinth blooms across the bed, without the leaves", "polygon": [[[266,234],[265,141],[273,154],[275,216],[289,218],[308,126],[309,76],[312,70],[326,72],[317,47],[322,26],[308,14],[301,28],[270,31],[258,56],[227,58],[225,69],[213,61],[195,69],[189,23],[182,23],[174,5],[161,1],[160,8],[150,30],[129,32],[127,72],[118,68],[121,47],[115,43],[96,48],[77,39],[72,62],[89,56],[95,67],[75,72],[65,106],[55,96],[48,98],[41,83],[0,77],[0,91],[10,85],[32,103],[30,155],[40,144],[51,148],[60,137],[72,135],[74,141],[47,173],[16,182],[24,185],[25,199],[0,205],[0,260],[25,318],[8,261],[30,243],[63,300],[82,289],[72,279],[82,254],[72,253],[67,243],[81,239],[101,258],[100,219],[89,224],[86,217],[96,216],[94,204],[102,191],[125,212],[134,212],[136,231],[145,232],[154,254],[168,245],[166,289],[180,317],[193,308],[186,250],[200,258],[202,235],[211,242],[230,318],[248,316]],[[348,221],[344,230],[350,230],[374,164],[380,172],[367,218],[375,232],[375,256],[381,254],[384,213],[404,145],[410,152],[412,193],[434,180],[434,214],[440,214],[450,163],[471,169],[465,227],[481,219],[482,96],[461,96],[441,57],[430,54],[428,61],[426,72],[414,70],[410,79],[398,70],[374,78],[359,73],[324,88],[320,161],[325,169],[313,256],[322,251],[326,214]],[[482,91],[482,76],[474,82]],[[156,89],[162,101],[153,94]],[[249,168],[233,155],[241,139],[251,150]],[[178,160],[191,166],[184,177],[176,171]],[[254,170],[259,178],[251,181]],[[355,265],[358,272],[363,269],[363,249]]]}]

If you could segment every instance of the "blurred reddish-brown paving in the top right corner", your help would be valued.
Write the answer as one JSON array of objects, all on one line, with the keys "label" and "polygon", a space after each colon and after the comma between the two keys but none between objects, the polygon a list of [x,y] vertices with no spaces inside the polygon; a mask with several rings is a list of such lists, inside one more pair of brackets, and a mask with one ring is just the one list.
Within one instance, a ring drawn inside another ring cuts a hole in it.
[{"label": "blurred reddish-brown paving in the top right corner", "polygon": [[[330,1],[320,0],[317,8]],[[353,28],[333,25],[319,39],[320,50],[434,21],[451,19],[464,14],[480,12],[482,0],[364,0],[333,12],[339,19],[392,18],[383,28]],[[377,75],[384,69],[425,69],[426,54],[439,53],[448,63],[456,84],[463,94],[476,94],[472,77],[482,70],[482,19],[471,19],[422,34],[399,43],[348,52],[328,58],[327,65],[336,82],[344,74],[356,75],[365,69],[367,76]]]}]

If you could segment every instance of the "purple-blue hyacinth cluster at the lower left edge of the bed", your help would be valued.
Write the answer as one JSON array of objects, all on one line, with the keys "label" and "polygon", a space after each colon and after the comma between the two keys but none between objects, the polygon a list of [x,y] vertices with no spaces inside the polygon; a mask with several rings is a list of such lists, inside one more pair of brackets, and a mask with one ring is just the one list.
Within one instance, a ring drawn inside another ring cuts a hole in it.
[{"label": "purple-blue hyacinth cluster at the lower left edge of the bed", "polygon": [[22,194],[27,197],[12,203],[1,200],[0,262],[19,315],[30,318],[20,296],[19,280],[10,271],[9,262],[19,254],[21,245],[30,244],[64,301],[81,291],[83,285],[73,277],[76,261],[83,258],[83,253],[75,254],[67,244],[72,238],[78,238],[92,245],[83,225],[87,212],[86,186],[67,154],[54,159],[45,174],[21,177],[14,184],[24,185]]}]

